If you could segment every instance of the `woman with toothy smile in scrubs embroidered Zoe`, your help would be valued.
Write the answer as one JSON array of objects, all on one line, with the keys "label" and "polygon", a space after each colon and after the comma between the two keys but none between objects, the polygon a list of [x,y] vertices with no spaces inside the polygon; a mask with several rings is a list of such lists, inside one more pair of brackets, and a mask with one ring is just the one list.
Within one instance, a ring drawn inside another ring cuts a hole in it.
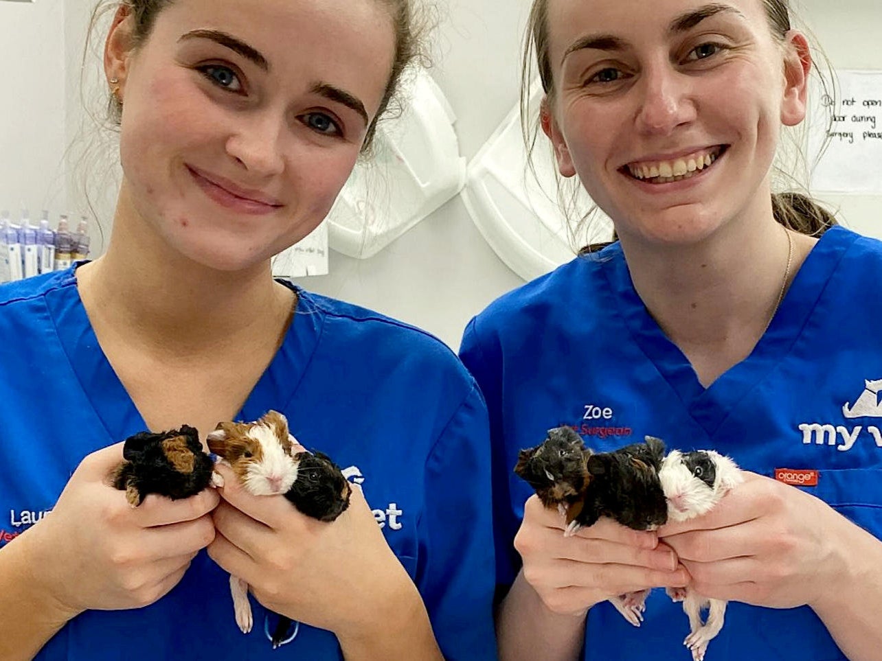
[{"label": "woman with toothy smile in scrubs embroidered Zoe", "polygon": [[[534,0],[529,31],[559,173],[618,241],[463,338],[494,443],[501,657],[689,658],[663,590],[639,628],[606,601],[688,583],[730,601],[714,661],[878,658],[882,243],[773,194],[811,71],[786,0]],[[558,425],[595,450],[717,449],[745,481],[685,524],[564,538],[512,473]]]}]

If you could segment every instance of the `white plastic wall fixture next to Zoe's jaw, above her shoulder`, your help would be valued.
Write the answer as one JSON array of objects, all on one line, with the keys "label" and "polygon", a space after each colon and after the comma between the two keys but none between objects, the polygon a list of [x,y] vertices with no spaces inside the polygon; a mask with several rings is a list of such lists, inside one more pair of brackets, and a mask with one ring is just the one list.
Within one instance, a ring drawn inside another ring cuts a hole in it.
[{"label": "white plastic wall fixture next to Zoe's jaw, above her shoulder", "polygon": [[[542,100],[538,81],[531,87],[533,126]],[[609,241],[611,223],[597,212],[578,235],[571,239],[571,226],[557,201],[556,165],[547,138],[540,134],[534,149],[535,175],[527,163],[520,123],[515,107],[487,143],[468,164],[462,197],[469,215],[484,239],[512,271],[531,280],[570,261],[589,241]],[[565,181],[567,189],[573,182]],[[578,183],[578,182],[577,182]],[[578,187],[579,212],[591,208],[591,199]]]}]

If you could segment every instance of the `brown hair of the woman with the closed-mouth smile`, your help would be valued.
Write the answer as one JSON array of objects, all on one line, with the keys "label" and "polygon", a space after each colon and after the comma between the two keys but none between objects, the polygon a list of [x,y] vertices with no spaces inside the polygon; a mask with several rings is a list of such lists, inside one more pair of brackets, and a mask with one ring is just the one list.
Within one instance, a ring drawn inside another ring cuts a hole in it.
[{"label": "brown hair of the woman with the closed-mouth smile", "polygon": [[[112,3],[101,3],[93,12],[92,26],[105,11],[116,11],[120,6],[128,7],[134,21],[132,48],[137,49],[144,44],[153,31],[156,17],[173,2],[174,0],[117,0]],[[423,50],[423,40],[430,27],[428,13],[422,14],[418,11],[413,0],[377,0],[377,2],[389,7],[395,30],[395,55],[392,59],[392,71],[390,71],[389,80],[386,83],[385,93],[377,109],[377,115],[368,126],[364,137],[363,153],[370,152],[370,146],[377,131],[377,122],[394,107],[392,99],[398,89],[401,74],[407,69],[407,65],[416,60],[428,61],[428,56]],[[120,101],[116,99],[116,96],[110,94],[108,115],[111,122],[117,126],[120,123],[122,111],[123,106]],[[390,114],[394,115],[395,112]]]}]

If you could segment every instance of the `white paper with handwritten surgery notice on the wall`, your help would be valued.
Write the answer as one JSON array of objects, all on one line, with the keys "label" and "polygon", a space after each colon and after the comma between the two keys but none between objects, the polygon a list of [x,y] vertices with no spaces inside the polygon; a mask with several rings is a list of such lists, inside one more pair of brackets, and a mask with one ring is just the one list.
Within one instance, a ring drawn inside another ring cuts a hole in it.
[{"label": "white paper with handwritten surgery notice on the wall", "polygon": [[[837,71],[835,98],[816,95],[824,121],[809,136],[809,154],[826,151],[811,175],[811,189],[882,195],[882,71]],[[830,115],[833,122],[830,123]]]}]

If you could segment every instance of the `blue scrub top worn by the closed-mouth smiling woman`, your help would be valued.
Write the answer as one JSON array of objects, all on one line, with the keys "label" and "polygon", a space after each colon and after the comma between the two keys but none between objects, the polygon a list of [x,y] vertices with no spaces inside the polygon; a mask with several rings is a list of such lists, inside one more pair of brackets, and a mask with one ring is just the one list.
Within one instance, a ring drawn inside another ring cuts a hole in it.
[{"label": "blue scrub top worn by the closed-mouth smiling woman", "polygon": [[[51,516],[86,454],[146,428],[101,352],[73,273],[0,287],[0,465],[15,467],[0,472],[0,547]],[[292,288],[294,320],[237,420],[283,412],[303,445],[333,457],[363,486],[445,657],[495,658],[490,446],[474,380],[427,333]],[[244,635],[228,574],[203,551],[155,604],[83,613],[37,658],[341,657],[330,632],[306,625],[273,650],[266,632],[277,616],[253,597],[251,605],[255,628]]]}]

